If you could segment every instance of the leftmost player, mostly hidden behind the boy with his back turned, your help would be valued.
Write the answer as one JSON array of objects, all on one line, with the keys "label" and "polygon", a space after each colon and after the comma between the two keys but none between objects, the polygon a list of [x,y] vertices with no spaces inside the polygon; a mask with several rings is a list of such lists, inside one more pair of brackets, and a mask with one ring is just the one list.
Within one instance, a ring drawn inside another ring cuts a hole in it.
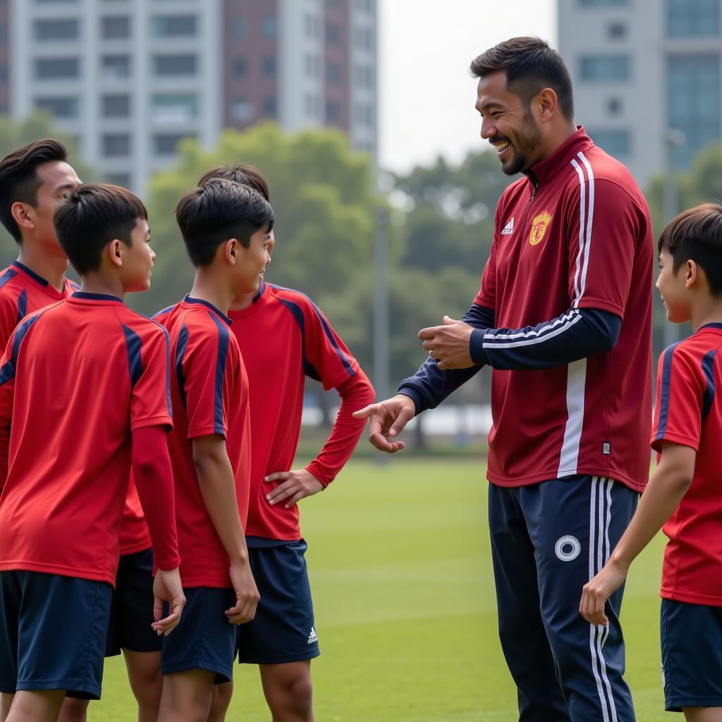
[{"label": "leftmost player, mostly hidden behind the boy with his back turned", "polygon": [[[17,323],[28,313],[78,289],[77,284],[64,278],[68,259],[53,227],[53,212],[58,202],[80,183],[66,160],[67,152],[61,142],[43,139],[17,149],[0,161],[0,220],[17,240],[20,251],[17,261],[0,274],[2,350]],[[121,560],[105,655],[120,654],[122,648],[131,689],[139,704],[140,722],[157,719],[162,686],[160,638],[151,628],[153,552],[150,547],[148,527],[131,480],[121,522]],[[84,722],[89,701],[67,696],[58,722]]]}]

